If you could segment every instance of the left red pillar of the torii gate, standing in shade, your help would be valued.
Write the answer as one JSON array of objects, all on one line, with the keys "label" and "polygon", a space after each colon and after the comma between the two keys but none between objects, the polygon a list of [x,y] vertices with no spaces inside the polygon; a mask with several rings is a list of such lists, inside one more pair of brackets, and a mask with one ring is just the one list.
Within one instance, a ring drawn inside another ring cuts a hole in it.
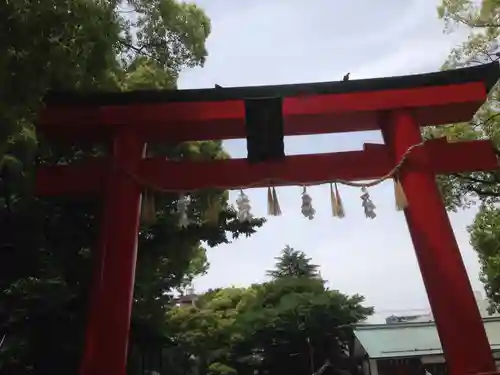
[{"label": "left red pillar of the torii gate, standing in shade", "polygon": [[[113,162],[135,171],[145,145],[133,129],[124,128],[116,135],[113,149]],[[116,169],[108,174],[107,182],[102,279],[91,301],[93,316],[89,317],[81,375],[126,375],[142,189]]]}]

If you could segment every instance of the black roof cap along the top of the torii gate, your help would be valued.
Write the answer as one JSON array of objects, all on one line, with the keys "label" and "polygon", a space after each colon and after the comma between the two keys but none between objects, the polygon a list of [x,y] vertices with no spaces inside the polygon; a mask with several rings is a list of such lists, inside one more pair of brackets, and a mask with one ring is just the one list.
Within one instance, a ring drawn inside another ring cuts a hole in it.
[{"label": "black roof cap along the top of the torii gate", "polygon": [[498,62],[468,68],[398,77],[301,83],[275,86],[228,87],[190,90],[141,90],[129,92],[52,92],[46,104],[78,104],[91,106],[126,105],[131,103],[225,101],[270,96],[346,94],[354,92],[447,86],[484,82],[489,91],[500,77]]}]

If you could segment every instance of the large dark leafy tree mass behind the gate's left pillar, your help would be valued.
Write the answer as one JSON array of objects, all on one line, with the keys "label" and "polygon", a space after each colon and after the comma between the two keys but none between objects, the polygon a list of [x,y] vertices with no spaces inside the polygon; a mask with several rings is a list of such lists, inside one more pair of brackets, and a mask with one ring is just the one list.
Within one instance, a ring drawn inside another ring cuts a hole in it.
[{"label": "large dark leafy tree mass behind the gate's left pillar", "polygon": [[[7,1],[0,14],[0,84],[9,88],[0,90],[0,372],[76,373],[99,204],[33,196],[33,169],[106,149],[48,145],[37,138],[34,119],[48,90],[175,88],[183,68],[205,61],[210,21],[197,6],[174,0]],[[227,157],[221,142],[150,151]],[[157,194],[158,221],[139,234],[132,346],[144,349],[165,334],[171,291],[208,267],[202,242],[215,246],[262,225],[239,223],[227,197],[194,194],[194,223],[181,231],[172,214],[178,197]],[[208,220],[210,210],[218,222]]]}]

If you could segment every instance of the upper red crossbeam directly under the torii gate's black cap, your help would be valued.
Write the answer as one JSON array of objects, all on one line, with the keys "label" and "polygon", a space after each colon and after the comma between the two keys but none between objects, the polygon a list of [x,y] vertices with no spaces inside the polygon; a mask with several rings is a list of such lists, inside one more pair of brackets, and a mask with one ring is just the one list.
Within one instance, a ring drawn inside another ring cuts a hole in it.
[{"label": "upper red crossbeam directly under the torii gate's black cap", "polygon": [[[486,99],[482,83],[285,98],[286,135],[379,129],[382,110],[414,108],[421,125],[469,120]],[[49,138],[99,140],[131,125],[145,141],[245,138],[244,102],[171,102],[48,107],[37,128]]]}]

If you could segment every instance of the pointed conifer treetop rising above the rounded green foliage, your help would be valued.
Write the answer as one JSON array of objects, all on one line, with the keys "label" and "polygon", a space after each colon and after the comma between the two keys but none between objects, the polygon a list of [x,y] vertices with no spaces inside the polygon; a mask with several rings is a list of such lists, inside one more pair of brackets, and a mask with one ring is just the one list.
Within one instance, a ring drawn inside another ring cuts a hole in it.
[{"label": "pointed conifer treetop rising above the rounded green foliage", "polygon": [[276,260],[275,269],[267,271],[267,275],[273,279],[282,277],[319,277],[319,266],[311,264],[311,258],[308,258],[305,253],[288,245],[285,246]]}]

